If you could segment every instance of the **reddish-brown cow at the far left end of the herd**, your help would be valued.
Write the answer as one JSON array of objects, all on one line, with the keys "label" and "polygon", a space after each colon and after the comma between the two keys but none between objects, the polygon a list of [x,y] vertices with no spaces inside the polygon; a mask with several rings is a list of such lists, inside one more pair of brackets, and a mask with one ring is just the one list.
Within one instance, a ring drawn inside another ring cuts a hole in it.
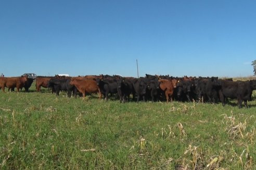
[{"label": "reddish-brown cow at the far left end of the herd", "polygon": [[22,77],[1,77],[0,78],[0,89],[5,92],[5,87],[8,89],[17,88],[17,92],[25,86],[25,82],[28,81],[28,76]]}]

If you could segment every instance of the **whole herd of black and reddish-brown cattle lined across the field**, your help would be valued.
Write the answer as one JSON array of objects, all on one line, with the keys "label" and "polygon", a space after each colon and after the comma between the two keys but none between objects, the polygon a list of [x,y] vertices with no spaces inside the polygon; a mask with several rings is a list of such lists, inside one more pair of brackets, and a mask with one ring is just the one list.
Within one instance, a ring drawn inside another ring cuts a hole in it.
[{"label": "whole herd of black and reddish-brown cattle lined across the field", "polygon": [[[108,100],[109,94],[118,94],[120,102],[133,101],[164,101],[167,103],[176,101],[201,101],[218,103],[223,106],[227,98],[237,99],[238,107],[248,107],[247,101],[252,100],[252,91],[256,90],[256,80],[233,81],[232,79],[218,79],[217,77],[170,77],[148,75],[145,77],[121,77],[117,75],[79,76],[79,77],[44,77],[36,78],[36,91],[41,87],[52,89],[52,93],[59,95],[60,91],[66,91],[68,97],[73,94],[98,93],[99,98],[104,96]],[[33,79],[27,76],[0,77],[0,90],[17,92],[24,88],[28,91]],[[130,96],[132,94],[132,99]]]}]

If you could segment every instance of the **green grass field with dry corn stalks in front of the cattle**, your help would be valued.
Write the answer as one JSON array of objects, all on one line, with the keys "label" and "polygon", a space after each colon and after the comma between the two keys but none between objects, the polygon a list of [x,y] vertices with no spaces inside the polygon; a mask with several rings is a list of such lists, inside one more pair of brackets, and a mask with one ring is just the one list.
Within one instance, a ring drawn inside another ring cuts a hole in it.
[{"label": "green grass field with dry corn stalks in front of the cattle", "polygon": [[[256,169],[256,102],[0,92],[1,169]],[[253,99],[256,99],[253,93]]]}]

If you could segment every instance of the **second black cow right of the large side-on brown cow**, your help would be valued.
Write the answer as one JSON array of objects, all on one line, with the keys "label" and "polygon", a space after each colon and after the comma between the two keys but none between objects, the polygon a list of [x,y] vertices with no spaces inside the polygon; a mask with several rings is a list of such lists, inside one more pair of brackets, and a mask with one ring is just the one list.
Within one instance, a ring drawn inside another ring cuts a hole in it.
[{"label": "second black cow right of the large side-on brown cow", "polygon": [[120,103],[121,102],[125,102],[126,100],[129,100],[130,94],[133,94],[133,98],[135,97],[135,91],[133,88],[133,77],[123,77],[120,79],[117,79],[117,83],[118,83],[118,95],[120,98]]}]

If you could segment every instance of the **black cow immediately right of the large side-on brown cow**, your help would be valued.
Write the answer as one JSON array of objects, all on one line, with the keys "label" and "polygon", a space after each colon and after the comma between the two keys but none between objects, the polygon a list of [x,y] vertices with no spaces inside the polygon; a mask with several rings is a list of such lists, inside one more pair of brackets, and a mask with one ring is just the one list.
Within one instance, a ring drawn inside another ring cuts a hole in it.
[{"label": "black cow immediately right of the large side-on brown cow", "polygon": [[108,94],[118,93],[118,83],[117,78],[105,78],[105,79],[96,79],[97,86],[99,87],[100,92],[105,96],[105,100],[108,100]]}]

